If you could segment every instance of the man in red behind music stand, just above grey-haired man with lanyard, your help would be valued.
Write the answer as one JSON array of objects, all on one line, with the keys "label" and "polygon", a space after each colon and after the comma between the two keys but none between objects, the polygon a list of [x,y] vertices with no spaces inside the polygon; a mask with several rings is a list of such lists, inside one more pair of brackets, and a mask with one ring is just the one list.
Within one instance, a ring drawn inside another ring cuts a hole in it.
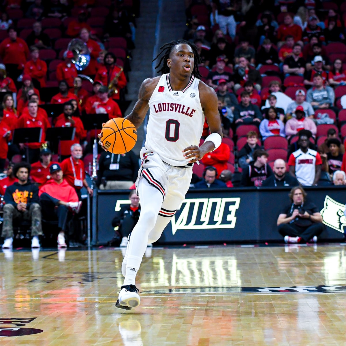
[{"label": "man in red behind music stand, just above grey-haired man with lanyard", "polygon": [[55,121],[55,127],[74,127],[75,134],[73,140],[60,141],[60,154],[68,156],[70,154],[71,146],[75,143],[80,143],[80,140],[86,137],[86,132],[81,118],[73,117],[73,107],[71,102],[64,104],[64,113],[60,114]]}]

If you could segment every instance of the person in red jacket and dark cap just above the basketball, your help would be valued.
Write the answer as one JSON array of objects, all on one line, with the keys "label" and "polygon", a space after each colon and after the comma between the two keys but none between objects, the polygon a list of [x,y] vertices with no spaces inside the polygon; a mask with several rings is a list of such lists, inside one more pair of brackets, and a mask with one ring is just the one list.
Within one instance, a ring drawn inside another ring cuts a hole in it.
[{"label": "person in red jacket and dark cap just above the basketball", "polygon": [[109,119],[121,118],[121,110],[117,102],[108,97],[108,88],[102,85],[97,92],[97,97],[90,97],[85,105],[87,114],[108,114]]}]

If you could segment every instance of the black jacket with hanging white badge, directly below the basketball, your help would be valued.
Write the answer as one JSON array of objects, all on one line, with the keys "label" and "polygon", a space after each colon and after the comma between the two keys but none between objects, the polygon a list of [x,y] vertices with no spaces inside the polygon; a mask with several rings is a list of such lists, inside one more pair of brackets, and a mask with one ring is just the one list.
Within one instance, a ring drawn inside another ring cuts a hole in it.
[{"label": "black jacket with hanging white badge, directly below the basketball", "polygon": [[[119,154],[119,169],[110,170],[112,154],[103,152],[99,160],[99,170],[97,171],[97,186],[100,186],[102,178],[107,180],[133,181],[135,182],[139,170],[139,157],[129,151],[126,154]],[[117,164],[118,154],[113,155],[113,164]]]}]

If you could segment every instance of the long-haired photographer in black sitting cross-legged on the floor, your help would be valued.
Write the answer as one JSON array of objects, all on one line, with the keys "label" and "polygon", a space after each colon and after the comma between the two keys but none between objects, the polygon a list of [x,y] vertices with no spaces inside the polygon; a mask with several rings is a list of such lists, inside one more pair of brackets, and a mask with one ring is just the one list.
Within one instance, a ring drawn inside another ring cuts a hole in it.
[{"label": "long-haired photographer in black sitting cross-legged on the floor", "polygon": [[292,204],[283,207],[277,218],[278,230],[285,243],[317,243],[317,237],[324,230],[319,209],[306,202],[307,194],[301,186],[292,188],[289,197]]}]

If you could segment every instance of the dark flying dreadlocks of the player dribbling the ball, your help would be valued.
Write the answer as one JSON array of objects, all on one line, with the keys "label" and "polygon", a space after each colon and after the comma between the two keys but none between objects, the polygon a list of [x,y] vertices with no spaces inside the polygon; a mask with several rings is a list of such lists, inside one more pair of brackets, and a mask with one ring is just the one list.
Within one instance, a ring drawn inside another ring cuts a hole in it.
[{"label": "dark flying dreadlocks of the player dribbling the ball", "polygon": [[162,67],[160,70],[157,71],[157,73],[160,73],[161,74],[165,74],[165,73],[170,73],[170,69],[169,67],[167,66],[167,59],[169,59],[170,57],[170,54],[172,52],[172,49],[177,45],[177,44],[187,44],[189,45],[191,48],[192,48],[192,51],[193,51],[193,55],[194,55],[194,66],[193,66],[193,70],[192,70],[192,74],[196,77],[196,78],[199,78],[201,79],[202,76],[200,75],[199,73],[199,70],[198,70],[198,64],[200,64],[202,62],[202,58],[200,57],[200,55],[198,54],[198,51],[197,51],[197,47],[189,42],[189,41],[186,41],[186,40],[177,40],[177,41],[171,41],[169,43],[165,43],[162,47],[160,47],[161,51],[160,53],[157,54],[156,58],[153,60],[155,61],[160,55],[161,56],[161,59],[160,61],[158,62],[158,64],[155,66],[155,70],[160,67],[161,63],[163,62],[162,64]]}]

